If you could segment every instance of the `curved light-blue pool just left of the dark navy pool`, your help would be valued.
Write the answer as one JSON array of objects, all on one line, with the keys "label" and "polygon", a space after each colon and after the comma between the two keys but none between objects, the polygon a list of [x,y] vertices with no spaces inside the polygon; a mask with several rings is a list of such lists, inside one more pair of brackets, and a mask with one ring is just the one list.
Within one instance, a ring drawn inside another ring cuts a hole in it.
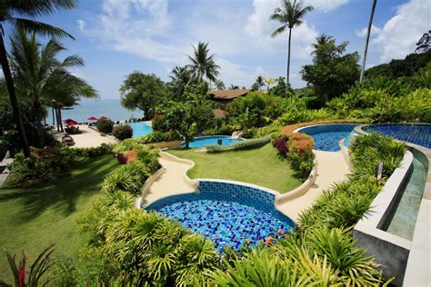
[{"label": "curved light-blue pool just left of the dark navy pool", "polygon": [[306,126],[296,132],[311,135],[315,140],[315,150],[336,152],[340,150],[339,142],[344,138],[345,146],[351,137],[357,134],[354,129],[358,124],[318,124]]}]

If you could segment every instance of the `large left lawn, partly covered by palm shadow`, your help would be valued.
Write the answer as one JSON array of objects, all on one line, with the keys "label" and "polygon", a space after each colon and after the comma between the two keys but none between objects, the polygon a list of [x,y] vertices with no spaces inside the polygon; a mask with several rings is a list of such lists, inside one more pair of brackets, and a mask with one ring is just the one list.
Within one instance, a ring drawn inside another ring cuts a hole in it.
[{"label": "large left lawn, partly covered by palm shadow", "polygon": [[76,219],[99,196],[107,173],[118,166],[112,155],[75,163],[72,174],[41,187],[0,189],[0,278],[11,282],[6,249],[28,262],[45,247],[55,243],[55,254],[65,254],[77,261],[85,234]]}]

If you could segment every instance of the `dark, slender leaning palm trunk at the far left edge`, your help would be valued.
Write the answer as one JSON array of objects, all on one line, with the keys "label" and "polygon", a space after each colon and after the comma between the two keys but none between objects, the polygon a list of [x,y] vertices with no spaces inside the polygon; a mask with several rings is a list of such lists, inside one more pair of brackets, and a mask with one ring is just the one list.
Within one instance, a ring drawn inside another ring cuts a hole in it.
[{"label": "dark, slender leaning palm trunk at the far left edge", "polygon": [[[2,25],[0,25],[0,30],[2,30]],[[16,130],[20,134],[21,139],[23,141],[25,157],[28,157],[30,155],[30,148],[27,141],[27,135],[25,134],[23,119],[21,118],[21,114],[19,113],[18,101],[16,99],[16,94],[15,94],[14,79],[12,78],[11,70],[9,68],[9,62],[7,61],[5,42],[3,41],[3,34],[1,32],[0,32],[0,62],[2,63],[3,74],[5,75],[5,82],[7,85],[7,92],[9,93],[9,98],[12,106],[14,122],[16,124]]]}]

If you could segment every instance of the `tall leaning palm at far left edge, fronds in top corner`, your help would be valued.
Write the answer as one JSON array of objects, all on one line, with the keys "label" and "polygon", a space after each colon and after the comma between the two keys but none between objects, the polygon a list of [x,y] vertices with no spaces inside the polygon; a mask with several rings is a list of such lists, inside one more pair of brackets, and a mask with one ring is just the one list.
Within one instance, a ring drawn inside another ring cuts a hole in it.
[{"label": "tall leaning palm at far left edge, fronds in top corner", "polygon": [[[40,35],[52,36],[69,36],[64,30],[52,25],[41,23],[31,18],[41,15],[52,15],[60,9],[72,9],[76,5],[76,0],[33,0],[33,1],[2,1],[0,5],[0,62],[2,64],[3,74],[7,84],[14,120],[16,123],[17,132],[20,134],[24,144],[25,156],[29,155],[29,146],[25,135],[23,120],[19,113],[18,101],[15,94],[14,79],[12,77],[4,41],[4,25],[12,25],[15,28],[25,29],[27,32],[33,32]],[[29,18],[21,18],[16,15],[27,16]]]}]

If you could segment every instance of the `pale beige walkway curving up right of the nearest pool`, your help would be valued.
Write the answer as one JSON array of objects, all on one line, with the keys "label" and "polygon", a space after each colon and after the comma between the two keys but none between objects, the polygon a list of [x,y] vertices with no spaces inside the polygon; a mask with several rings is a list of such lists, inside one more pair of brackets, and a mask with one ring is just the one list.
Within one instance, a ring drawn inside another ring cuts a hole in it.
[{"label": "pale beige walkway curving up right of the nearest pool", "polygon": [[349,167],[345,155],[339,152],[314,151],[317,160],[317,178],[314,186],[305,194],[277,206],[292,220],[297,221],[299,214],[309,208],[324,190],[336,182],[346,179]]}]

